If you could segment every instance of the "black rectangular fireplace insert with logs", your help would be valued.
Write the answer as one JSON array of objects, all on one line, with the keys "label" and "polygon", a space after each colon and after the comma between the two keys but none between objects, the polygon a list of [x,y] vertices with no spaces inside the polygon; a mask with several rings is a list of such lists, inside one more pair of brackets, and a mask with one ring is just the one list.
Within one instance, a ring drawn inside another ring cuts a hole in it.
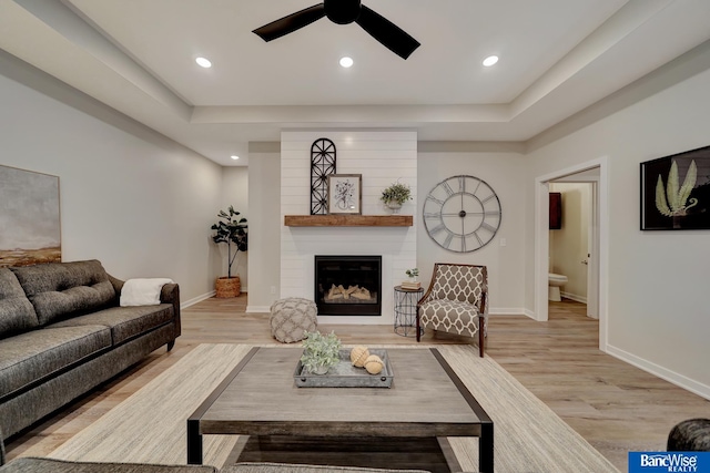
[{"label": "black rectangular fireplace insert with logs", "polygon": [[382,256],[315,255],[318,315],[381,316]]}]

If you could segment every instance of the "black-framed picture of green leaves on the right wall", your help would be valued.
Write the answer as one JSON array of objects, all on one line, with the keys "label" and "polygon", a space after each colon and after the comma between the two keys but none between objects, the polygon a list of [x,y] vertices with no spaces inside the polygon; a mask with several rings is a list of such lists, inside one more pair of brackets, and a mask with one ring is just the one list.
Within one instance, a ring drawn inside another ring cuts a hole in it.
[{"label": "black-framed picture of green leaves on the right wall", "polygon": [[710,228],[710,146],[641,163],[641,229]]}]

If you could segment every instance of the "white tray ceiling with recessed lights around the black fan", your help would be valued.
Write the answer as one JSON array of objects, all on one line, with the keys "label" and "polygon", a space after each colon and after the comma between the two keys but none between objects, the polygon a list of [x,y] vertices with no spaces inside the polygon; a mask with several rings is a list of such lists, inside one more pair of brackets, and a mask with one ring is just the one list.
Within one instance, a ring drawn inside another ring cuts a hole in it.
[{"label": "white tray ceiling with recessed lights around the black fan", "polygon": [[[0,48],[245,165],[248,142],[286,128],[525,142],[710,39],[708,0],[364,0],[422,43],[408,60],[325,18],[268,43],[252,33],[315,3],[0,0]],[[500,61],[484,68],[490,54]]]}]

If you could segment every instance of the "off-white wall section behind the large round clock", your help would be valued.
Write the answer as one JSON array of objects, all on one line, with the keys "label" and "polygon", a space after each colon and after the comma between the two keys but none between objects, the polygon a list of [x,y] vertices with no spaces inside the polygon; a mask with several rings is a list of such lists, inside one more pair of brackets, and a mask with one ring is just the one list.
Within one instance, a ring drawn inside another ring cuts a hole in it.
[{"label": "off-white wall section behind the large round clock", "polygon": [[[417,229],[417,266],[419,279],[427,285],[435,263],[484,265],[488,269],[491,313],[523,313],[525,307],[525,158],[521,153],[490,144],[460,145],[447,143],[427,145],[419,151],[417,215],[422,215],[428,192],[439,182],[455,175],[478,177],[496,192],[503,217],[494,239],[471,253],[455,253],[438,246],[426,233]],[[454,148],[454,151],[452,151]],[[501,240],[505,239],[505,246]]]}]

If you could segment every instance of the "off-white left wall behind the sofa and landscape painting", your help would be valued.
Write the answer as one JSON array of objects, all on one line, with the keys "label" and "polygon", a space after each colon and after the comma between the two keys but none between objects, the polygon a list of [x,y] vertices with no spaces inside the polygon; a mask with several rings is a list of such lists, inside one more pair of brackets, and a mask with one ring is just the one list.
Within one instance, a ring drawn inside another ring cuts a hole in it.
[{"label": "off-white left wall behind the sofa and landscape painting", "polygon": [[17,72],[0,61],[0,164],[59,176],[62,259],[99,259],[121,279],[170,277],[183,302],[210,294],[222,168],[54,80],[33,76],[112,124],[6,74]]}]

